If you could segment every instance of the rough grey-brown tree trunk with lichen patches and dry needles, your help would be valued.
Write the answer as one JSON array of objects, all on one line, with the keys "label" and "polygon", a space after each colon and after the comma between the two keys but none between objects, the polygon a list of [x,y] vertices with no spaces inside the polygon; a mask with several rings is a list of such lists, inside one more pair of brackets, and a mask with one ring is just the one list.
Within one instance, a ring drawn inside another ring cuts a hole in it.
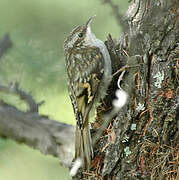
[{"label": "rough grey-brown tree trunk with lichen patches and dry needles", "polygon": [[[178,20],[176,0],[134,0],[120,42],[108,38],[114,73],[129,65],[122,81],[129,97],[95,146],[88,178],[179,178]],[[116,84],[101,109],[110,109]]]}]

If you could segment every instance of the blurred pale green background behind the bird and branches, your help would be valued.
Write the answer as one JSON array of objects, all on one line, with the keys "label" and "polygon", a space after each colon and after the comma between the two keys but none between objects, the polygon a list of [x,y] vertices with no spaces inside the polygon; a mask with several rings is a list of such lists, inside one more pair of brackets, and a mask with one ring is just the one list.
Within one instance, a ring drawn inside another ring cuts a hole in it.
[{"label": "blurred pale green background behind the bird and branches", "polygon": [[[0,0],[0,37],[9,33],[11,48],[0,59],[0,84],[19,82],[39,102],[40,113],[75,124],[67,92],[63,42],[69,32],[97,15],[92,24],[96,36],[119,38],[120,27],[112,9],[102,0]],[[115,0],[124,13],[127,1]],[[0,99],[21,110],[27,107],[17,96],[0,92]],[[57,158],[44,156],[25,145],[0,139],[0,180],[68,180],[68,169]]]}]

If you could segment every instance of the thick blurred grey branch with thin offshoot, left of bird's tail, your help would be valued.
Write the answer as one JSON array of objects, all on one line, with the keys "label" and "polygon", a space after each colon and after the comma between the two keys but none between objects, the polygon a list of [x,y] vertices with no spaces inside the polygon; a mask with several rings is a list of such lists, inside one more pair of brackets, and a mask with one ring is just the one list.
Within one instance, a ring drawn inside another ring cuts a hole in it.
[{"label": "thick blurred grey branch with thin offshoot, left of bird's tail", "polygon": [[[30,95],[15,87],[0,86],[1,91],[15,93],[28,102],[35,103]],[[31,98],[30,98],[31,97]],[[62,165],[70,167],[74,157],[72,125],[50,120],[36,111],[22,112],[0,101],[0,137],[24,143],[44,154],[58,157]]]}]

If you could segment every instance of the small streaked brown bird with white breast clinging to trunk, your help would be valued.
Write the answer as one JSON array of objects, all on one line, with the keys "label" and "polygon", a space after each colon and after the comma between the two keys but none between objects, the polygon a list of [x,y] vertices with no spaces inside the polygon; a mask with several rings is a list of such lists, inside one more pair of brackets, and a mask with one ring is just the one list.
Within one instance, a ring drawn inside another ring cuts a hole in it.
[{"label": "small streaked brown bird with white breast clinging to trunk", "polygon": [[75,159],[89,171],[94,156],[89,113],[106,95],[111,82],[111,58],[103,41],[96,38],[90,24],[96,16],[77,26],[64,41],[68,91],[76,118]]}]

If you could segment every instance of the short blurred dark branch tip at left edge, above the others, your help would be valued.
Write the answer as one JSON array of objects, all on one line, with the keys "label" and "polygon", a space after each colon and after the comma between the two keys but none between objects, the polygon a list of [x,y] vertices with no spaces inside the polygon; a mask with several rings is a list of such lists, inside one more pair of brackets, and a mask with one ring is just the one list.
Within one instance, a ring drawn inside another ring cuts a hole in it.
[{"label": "short blurred dark branch tip at left edge, above the others", "polygon": [[0,41],[0,58],[11,47],[12,47],[12,42],[10,40],[9,34],[5,34],[3,39]]}]

